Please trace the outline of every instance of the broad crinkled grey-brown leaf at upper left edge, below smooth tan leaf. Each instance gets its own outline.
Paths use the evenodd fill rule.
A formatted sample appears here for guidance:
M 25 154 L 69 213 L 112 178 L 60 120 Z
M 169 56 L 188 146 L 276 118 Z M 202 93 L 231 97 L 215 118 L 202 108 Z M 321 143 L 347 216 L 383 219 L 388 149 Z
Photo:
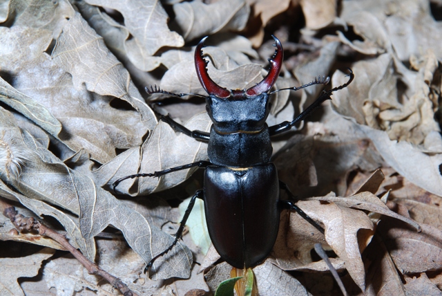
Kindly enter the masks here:
M 140 145 L 141 138 L 149 125 L 155 124 L 153 114 L 141 100 L 139 100 L 140 109 L 144 111 L 140 113 L 145 114 L 144 122 L 140 119 L 140 113 L 113 109 L 109 104 L 111 97 L 88 93 L 84 85 L 79 85 L 79 89 L 76 89 L 73 86 L 73 77 L 44 52 L 51 40 L 49 31 L 21 26 L 2 27 L 0 39 L 3 48 L 8 48 L 0 54 L 0 66 L 2 71 L 13 75 L 11 86 L 28 95 L 35 101 L 36 106 L 41 104 L 47 109 L 34 107 L 28 109 L 28 113 L 24 115 L 32 120 L 39 116 L 40 122 L 37 124 L 41 124 L 41 120 L 51 124 L 52 117 L 57 118 L 63 128 L 61 133 L 54 136 L 71 149 L 76 151 L 85 148 L 94 159 L 104 163 L 115 156 L 115 147 L 127 148 Z M 99 60 L 95 59 L 95 62 Z M 91 63 L 92 66 L 93 62 Z M 114 86 L 117 85 L 116 82 L 120 82 L 120 86 L 128 84 L 128 74 L 125 81 L 122 75 L 116 74 L 116 76 L 102 76 L 102 81 L 111 80 L 113 82 L 109 84 Z M 10 93 L 14 95 L 10 101 L 24 102 L 23 96 L 17 91 Z M 119 95 L 112 90 L 111 93 L 105 94 Z M 138 95 L 141 98 L 139 93 Z M 26 104 L 30 106 L 29 102 Z M 45 118 L 41 118 L 42 115 Z M 40 126 L 46 129 L 45 125 Z M 52 135 L 56 131 L 57 129 L 54 130 L 53 127 L 48 128 L 48 132 Z

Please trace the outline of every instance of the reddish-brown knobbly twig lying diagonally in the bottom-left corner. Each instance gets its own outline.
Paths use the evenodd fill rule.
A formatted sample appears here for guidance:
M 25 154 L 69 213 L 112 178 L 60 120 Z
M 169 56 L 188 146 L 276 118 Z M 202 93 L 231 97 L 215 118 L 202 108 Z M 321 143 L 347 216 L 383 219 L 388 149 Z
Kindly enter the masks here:
M 108 272 L 102 270 L 97 264 L 89 261 L 86 257 L 84 257 L 79 250 L 74 248 L 64 237 L 63 234 L 59 234 L 55 230 L 48 228 L 46 225 L 41 224 L 39 221 L 32 217 L 25 217 L 22 214 L 19 214 L 15 207 L 8 207 L 3 211 L 3 215 L 8 217 L 10 221 L 15 225 L 15 228 L 22 231 L 37 231 L 40 235 L 50 237 L 51 239 L 57 241 L 64 246 L 66 250 L 68 250 L 75 258 L 88 270 L 90 275 L 99 275 L 104 277 L 109 283 L 112 284 L 115 288 L 120 290 L 120 292 L 124 296 L 136 296 L 136 293 L 133 293 L 126 284 L 122 282 L 121 279 L 110 275 Z

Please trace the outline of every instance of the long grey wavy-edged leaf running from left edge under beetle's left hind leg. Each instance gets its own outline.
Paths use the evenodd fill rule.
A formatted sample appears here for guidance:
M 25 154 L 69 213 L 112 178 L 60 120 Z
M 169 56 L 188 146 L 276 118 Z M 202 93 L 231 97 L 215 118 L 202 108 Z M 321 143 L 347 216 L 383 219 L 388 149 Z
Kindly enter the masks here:
M 95 237 L 108 225 L 113 225 L 123 232 L 129 246 L 146 262 L 153 254 L 162 252 L 164 245 L 171 244 L 173 237 L 149 224 L 139 212 L 97 187 L 87 176 L 69 169 L 29 133 L 23 131 L 22 134 L 8 111 L 1 111 L 0 132 L 19 143 L 1 148 L 15 147 L 12 155 L 26 156 L 19 163 L 19 178 L 14 174 L 8 177 L 1 167 L 0 177 L 5 183 L 28 198 L 57 205 L 78 215 L 79 228 L 85 239 Z M 161 264 L 163 260 L 165 264 Z M 189 277 L 191 263 L 191 252 L 178 243 L 172 252 L 157 261 L 153 278 Z

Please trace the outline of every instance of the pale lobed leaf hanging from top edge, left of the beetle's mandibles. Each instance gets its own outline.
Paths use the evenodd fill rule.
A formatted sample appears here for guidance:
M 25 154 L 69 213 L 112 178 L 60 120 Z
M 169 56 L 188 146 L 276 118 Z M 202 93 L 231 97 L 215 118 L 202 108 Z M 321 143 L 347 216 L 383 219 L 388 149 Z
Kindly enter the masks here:
M 169 30 L 169 16 L 159 1 L 115 2 L 108 0 L 87 0 L 94 6 L 111 8 L 124 17 L 124 26 L 113 21 L 106 14 L 101 17 L 110 25 L 121 31 L 124 51 L 128 59 L 142 71 L 152 71 L 160 65 L 153 55 L 164 46 L 181 47 L 184 40 L 180 35 Z M 95 22 L 97 19 L 95 19 Z M 96 24 L 96 23 L 95 23 Z M 96 24 L 99 26 L 99 24 Z M 111 36 L 107 36 L 111 39 Z M 113 35 L 113 37 L 117 37 Z M 104 37 L 107 41 L 107 38 Z M 120 38 L 119 38 L 120 39 Z

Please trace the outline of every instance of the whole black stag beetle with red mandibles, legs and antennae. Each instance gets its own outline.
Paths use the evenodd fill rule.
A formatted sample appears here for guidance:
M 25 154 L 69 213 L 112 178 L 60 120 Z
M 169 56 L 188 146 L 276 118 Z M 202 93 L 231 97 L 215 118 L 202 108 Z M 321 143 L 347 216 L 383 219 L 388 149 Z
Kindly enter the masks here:
M 213 246 L 222 259 L 236 268 L 253 268 L 262 263 L 273 248 L 278 235 L 280 210 L 289 208 L 298 212 L 304 219 L 313 224 L 321 232 L 316 222 L 307 216 L 292 201 L 280 200 L 280 189 L 288 192 L 287 186 L 279 181 L 278 172 L 270 162 L 272 147 L 270 137 L 289 131 L 297 122 L 303 120 L 314 109 L 320 106 L 334 91 L 344 89 L 353 80 L 349 70 L 347 83 L 329 91 L 323 91 L 305 111 L 291 122 L 267 126 L 266 119 L 271 104 L 269 95 L 282 67 L 284 53 L 280 41 L 275 39 L 276 51 L 269 59 L 270 70 L 267 76 L 255 86 L 245 90 L 228 90 L 211 80 L 206 65 L 209 63 L 202 56 L 203 38 L 195 50 L 195 68 L 198 79 L 209 96 L 206 99 L 206 110 L 213 122 L 210 133 L 191 131 L 172 120 L 169 115 L 162 115 L 161 120 L 170 124 L 175 131 L 207 142 L 209 161 L 198 161 L 172 167 L 151 174 L 134 174 L 119 178 L 113 187 L 128 178 L 160 177 L 177 172 L 181 169 L 200 167 L 206 169 L 204 188 L 195 192 L 180 228 L 175 234 L 175 241 L 169 248 L 157 255 L 147 264 L 144 272 L 153 262 L 169 252 L 182 237 L 186 220 L 192 210 L 196 198 L 204 200 L 206 223 Z M 309 84 L 288 89 L 298 90 L 314 84 L 327 84 L 329 77 L 318 77 Z M 169 93 L 162 89 L 146 87 L 148 94 L 166 93 L 182 97 L 189 93 Z M 288 192 L 289 193 L 289 192 Z M 294 196 L 289 193 L 293 198 Z

